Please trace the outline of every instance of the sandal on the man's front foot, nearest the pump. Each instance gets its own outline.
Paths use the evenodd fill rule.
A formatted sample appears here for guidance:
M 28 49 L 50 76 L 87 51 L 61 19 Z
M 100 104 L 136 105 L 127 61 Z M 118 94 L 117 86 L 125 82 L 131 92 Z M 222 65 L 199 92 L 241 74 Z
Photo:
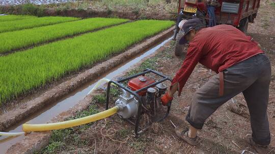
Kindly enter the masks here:
M 188 129 L 181 130 L 178 127 L 175 128 L 175 132 L 179 138 L 181 138 L 182 140 L 184 140 L 185 142 L 193 146 L 199 144 L 201 142 L 201 139 L 199 139 L 198 136 L 196 136 L 195 138 L 188 137 L 188 131 L 189 131 Z

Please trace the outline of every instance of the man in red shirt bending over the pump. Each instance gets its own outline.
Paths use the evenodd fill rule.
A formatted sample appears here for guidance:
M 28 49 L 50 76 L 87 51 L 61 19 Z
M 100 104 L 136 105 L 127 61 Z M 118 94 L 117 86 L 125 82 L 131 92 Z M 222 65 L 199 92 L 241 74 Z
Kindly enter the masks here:
M 175 129 L 176 134 L 191 145 L 199 143 L 197 130 L 221 105 L 243 93 L 251 116 L 252 135 L 246 140 L 259 152 L 265 153 L 270 143 L 267 117 L 268 90 L 271 76 L 269 59 L 252 37 L 231 25 L 205 28 L 200 19 L 190 19 L 181 28 L 180 44 L 189 42 L 185 60 L 176 73 L 170 91 L 161 98 L 162 104 L 181 94 L 187 79 L 198 62 L 212 69 L 214 75 L 194 95 L 186 121 L 189 129 Z

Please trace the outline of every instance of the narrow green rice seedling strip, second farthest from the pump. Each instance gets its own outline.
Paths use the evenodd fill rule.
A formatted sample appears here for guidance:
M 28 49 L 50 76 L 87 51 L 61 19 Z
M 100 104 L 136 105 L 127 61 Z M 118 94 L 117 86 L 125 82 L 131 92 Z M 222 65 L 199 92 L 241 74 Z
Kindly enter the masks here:
M 79 20 L 80 18 L 74 17 L 41 17 L 41 18 L 30 18 L 14 21 L 3 21 L 0 22 L 0 32 L 7 32 L 13 30 L 21 30 L 26 28 L 34 28 L 45 25 L 52 25 L 62 22 Z

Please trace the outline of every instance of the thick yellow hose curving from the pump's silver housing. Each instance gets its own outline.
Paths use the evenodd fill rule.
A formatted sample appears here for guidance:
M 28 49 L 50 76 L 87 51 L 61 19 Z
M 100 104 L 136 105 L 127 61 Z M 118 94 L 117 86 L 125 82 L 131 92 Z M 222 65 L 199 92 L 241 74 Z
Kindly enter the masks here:
M 23 124 L 22 128 L 24 132 L 59 130 L 59 129 L 88 124 L 88 123 L 109 117 L 115 114 L 117 111 L 118 111 L 118 106 L 115 106 L 113 108 L 104 110 L 102 112 L 89 115 L 87 117 L 79 118 L 79 119 L 74 119 L 74 120 L 59 122 L 59 123 L 50 123 L 50 124 Z

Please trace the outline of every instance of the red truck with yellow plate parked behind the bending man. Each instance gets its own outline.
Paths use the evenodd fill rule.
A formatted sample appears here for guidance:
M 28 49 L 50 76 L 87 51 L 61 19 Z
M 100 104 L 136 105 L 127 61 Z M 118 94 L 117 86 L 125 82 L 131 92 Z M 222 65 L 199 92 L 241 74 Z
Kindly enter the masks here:
M 178 44 L 183 35 L 178 26 L 182 20 L 200 18 L 206 27 L 228 24 L 246 33 L 249 22 L 253 23 L 257 16 L 259 6 L 260 0 L 179 0 L 172 38 L 176 41 L 175 55 L 180 56 L 184 48 Z

